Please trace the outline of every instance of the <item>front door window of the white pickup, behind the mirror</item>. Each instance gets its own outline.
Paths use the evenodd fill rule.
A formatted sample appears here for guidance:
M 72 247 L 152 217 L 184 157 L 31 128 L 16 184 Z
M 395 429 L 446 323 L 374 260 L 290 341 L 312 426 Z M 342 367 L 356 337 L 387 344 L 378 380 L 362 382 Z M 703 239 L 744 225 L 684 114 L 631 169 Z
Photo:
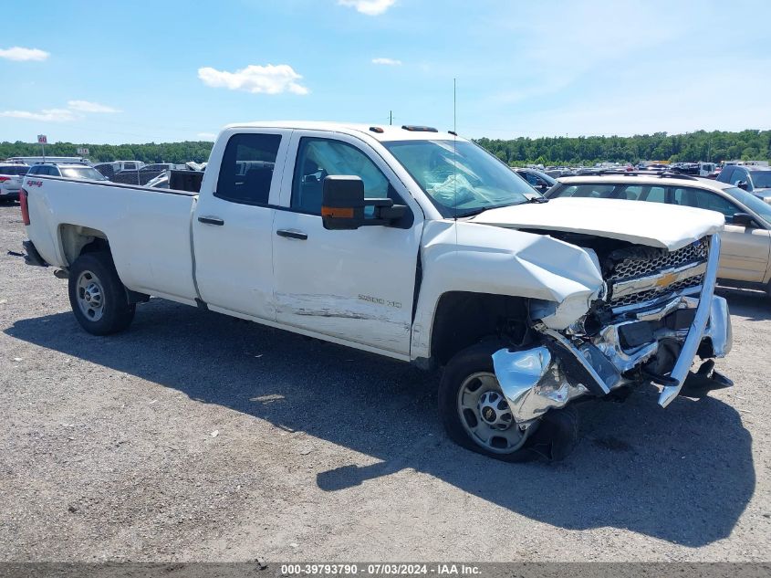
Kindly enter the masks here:
M 321 215 L 321 193 L 328 175 L 356 175 L 364 182 L 365 198 L 400 202 L 388 179 L 364 152 L 346 142 L 303 138 L 297 150 L 292 181 L 292 208 Z

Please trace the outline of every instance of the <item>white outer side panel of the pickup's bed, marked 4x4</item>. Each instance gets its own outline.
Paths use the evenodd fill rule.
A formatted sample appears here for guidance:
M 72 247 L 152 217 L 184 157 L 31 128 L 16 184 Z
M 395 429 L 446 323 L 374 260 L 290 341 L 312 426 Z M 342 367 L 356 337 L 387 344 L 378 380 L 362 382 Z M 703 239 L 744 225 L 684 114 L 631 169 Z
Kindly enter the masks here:
M 31 233 L 48 263 L 69 266 L 73 232 L 103 236 L 126 287 L 194 303 L 196 193 L 52 176 L 27 177 L 23 187 Z

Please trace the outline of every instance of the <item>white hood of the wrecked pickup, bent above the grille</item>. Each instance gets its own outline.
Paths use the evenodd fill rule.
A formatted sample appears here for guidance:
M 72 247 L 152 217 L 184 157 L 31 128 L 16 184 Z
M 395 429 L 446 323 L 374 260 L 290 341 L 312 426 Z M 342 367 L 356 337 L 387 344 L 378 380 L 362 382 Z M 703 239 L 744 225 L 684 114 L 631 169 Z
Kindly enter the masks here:
M 490 209 L 472 222 L 605 236 L 674 251 L 720 232 L 725 219 L 720 213 L 688 206 L 565 197 Z

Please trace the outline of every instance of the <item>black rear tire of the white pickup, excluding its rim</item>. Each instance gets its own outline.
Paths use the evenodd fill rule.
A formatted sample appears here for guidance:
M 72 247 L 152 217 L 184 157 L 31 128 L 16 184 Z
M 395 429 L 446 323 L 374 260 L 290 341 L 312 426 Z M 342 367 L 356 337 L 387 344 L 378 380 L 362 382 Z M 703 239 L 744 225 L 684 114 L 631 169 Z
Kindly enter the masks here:
M 78 306 L 78 277 L 84 271 L 91 271 L 99 278 L 104 292 L 104 311 L 99 321 L 90 320 Z M 86 253 L 75 259 L 69 268 L 68 293 L 75 318 L 84 330 L 93 335 L 122 331 L 133 319 L 134 306 L 129 304 L 126 289 L 120 282 L 109 253 Z

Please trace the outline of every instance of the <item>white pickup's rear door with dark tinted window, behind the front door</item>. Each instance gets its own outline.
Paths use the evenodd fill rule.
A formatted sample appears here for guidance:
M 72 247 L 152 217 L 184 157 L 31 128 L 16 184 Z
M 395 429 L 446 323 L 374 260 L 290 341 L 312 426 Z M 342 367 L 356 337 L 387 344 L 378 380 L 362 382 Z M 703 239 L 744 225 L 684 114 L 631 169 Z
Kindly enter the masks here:
M 195 279 L 214 310 L 276 320 L 273 216 L 291 131 L 233 134 L 193 215 Z M 208 185 L 208 183 L 207 183 Z

